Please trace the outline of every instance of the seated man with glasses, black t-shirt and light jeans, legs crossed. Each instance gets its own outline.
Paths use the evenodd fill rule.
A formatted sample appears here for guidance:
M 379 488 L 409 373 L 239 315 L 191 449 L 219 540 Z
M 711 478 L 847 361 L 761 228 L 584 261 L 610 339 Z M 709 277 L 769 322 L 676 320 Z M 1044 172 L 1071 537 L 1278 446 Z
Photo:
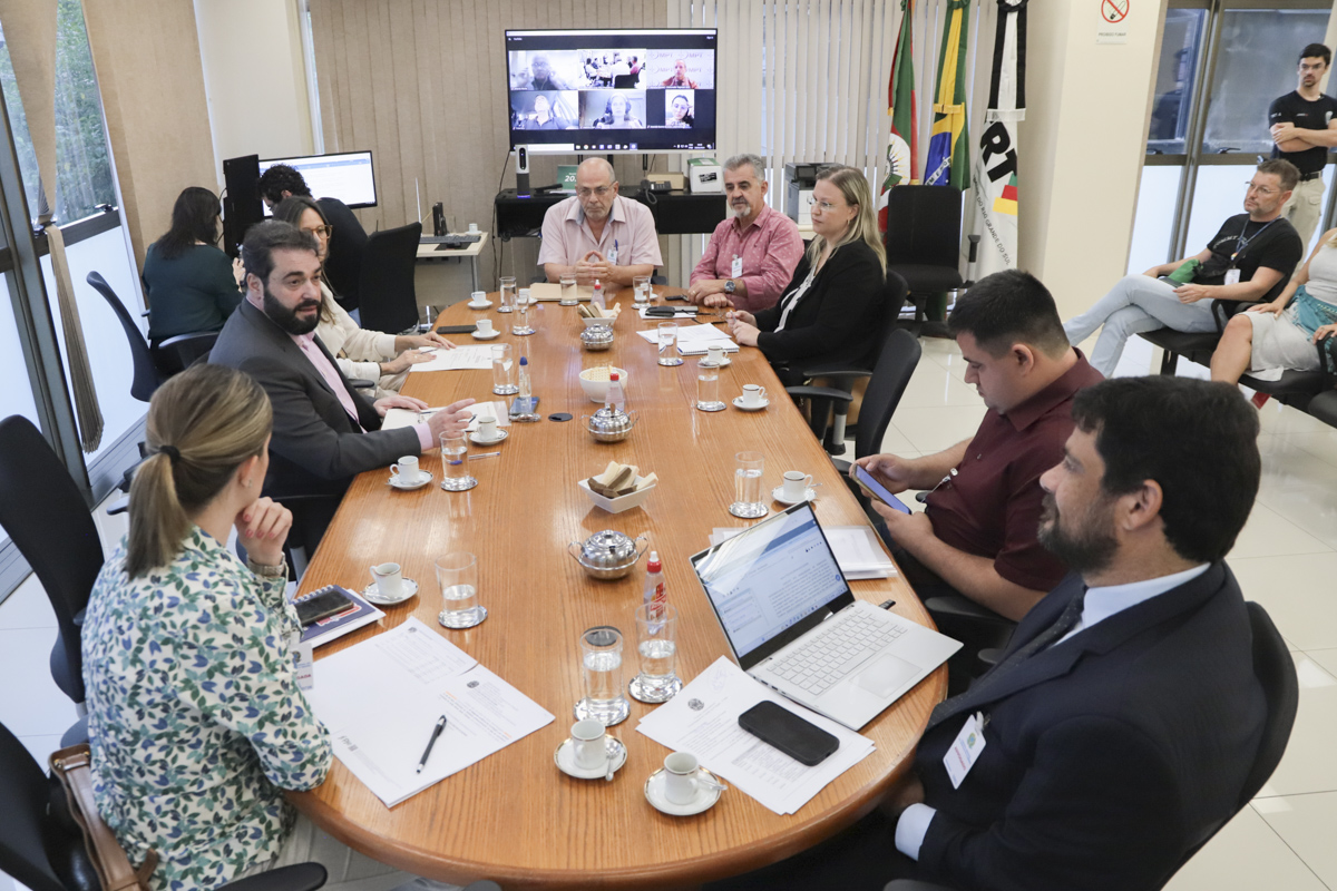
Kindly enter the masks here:
M 1217 330 L 1213 301 L 1277 297 L 1304 256 L 1296 227 L 1281 214 L 1298 179 L 1288 160 L 1258 164 L 1245 183 L 1243 214 L 1227 219 L 1198 254 L 1123 277 L 1095 306 L 1063 325 L 1068 342 L 1075 346 L 1102 329 L 1091 365 L 1112 377 L 1134 334 L 1159 327 L 1209 334 Z

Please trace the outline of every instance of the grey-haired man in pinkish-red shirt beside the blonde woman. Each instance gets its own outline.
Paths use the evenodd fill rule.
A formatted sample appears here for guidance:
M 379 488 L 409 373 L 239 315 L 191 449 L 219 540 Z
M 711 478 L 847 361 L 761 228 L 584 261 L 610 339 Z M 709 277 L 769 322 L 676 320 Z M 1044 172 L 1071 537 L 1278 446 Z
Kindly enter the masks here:
M 757 155 L 725 162 L 725 195 L 734 211 L 715 227 L 706 252 L 691 271 L 687 299 L 755 313 L 779 301 L 804 255 L 798 226 L 766 206 L 767 183 Z

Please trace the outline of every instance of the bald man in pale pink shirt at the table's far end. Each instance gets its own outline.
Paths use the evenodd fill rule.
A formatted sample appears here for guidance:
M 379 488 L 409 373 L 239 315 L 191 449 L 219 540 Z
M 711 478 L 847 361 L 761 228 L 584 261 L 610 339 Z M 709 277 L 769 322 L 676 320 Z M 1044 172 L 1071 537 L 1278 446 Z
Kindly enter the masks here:
M 663 260 L 650 208 L 618 195 L 618 178 L 603 158 L 576 168 L 575 198 L 558 202 L 543 216 L 539 264 L 550 282 L 575 275 L 580 285 L 631 285 L 654 275 Z

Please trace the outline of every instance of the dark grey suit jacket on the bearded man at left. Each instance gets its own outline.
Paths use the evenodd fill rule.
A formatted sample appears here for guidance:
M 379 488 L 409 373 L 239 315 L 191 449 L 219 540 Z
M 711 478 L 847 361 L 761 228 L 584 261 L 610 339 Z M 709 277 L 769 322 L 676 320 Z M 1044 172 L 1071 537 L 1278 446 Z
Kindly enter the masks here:
M 421 450 L 412 427 L 381 430 L 376 409 L 349 387 L 358 429 L 301 347 L 250 301 L 227 319 L 209 361 L 255 378 L 274 406 L 266 496 L 340 494 L 356 474 Z

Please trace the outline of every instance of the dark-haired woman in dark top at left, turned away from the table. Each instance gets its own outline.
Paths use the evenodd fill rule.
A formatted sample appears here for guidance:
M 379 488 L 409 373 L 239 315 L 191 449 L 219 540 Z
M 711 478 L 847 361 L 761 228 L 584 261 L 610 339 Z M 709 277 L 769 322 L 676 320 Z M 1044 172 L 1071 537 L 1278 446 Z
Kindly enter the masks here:
M 148 246 L 148 339 L 219 331 L 242 301 L 241 273 L 218 247 L 218 196 L 191 186 L 176 196 L 171 228 Z

